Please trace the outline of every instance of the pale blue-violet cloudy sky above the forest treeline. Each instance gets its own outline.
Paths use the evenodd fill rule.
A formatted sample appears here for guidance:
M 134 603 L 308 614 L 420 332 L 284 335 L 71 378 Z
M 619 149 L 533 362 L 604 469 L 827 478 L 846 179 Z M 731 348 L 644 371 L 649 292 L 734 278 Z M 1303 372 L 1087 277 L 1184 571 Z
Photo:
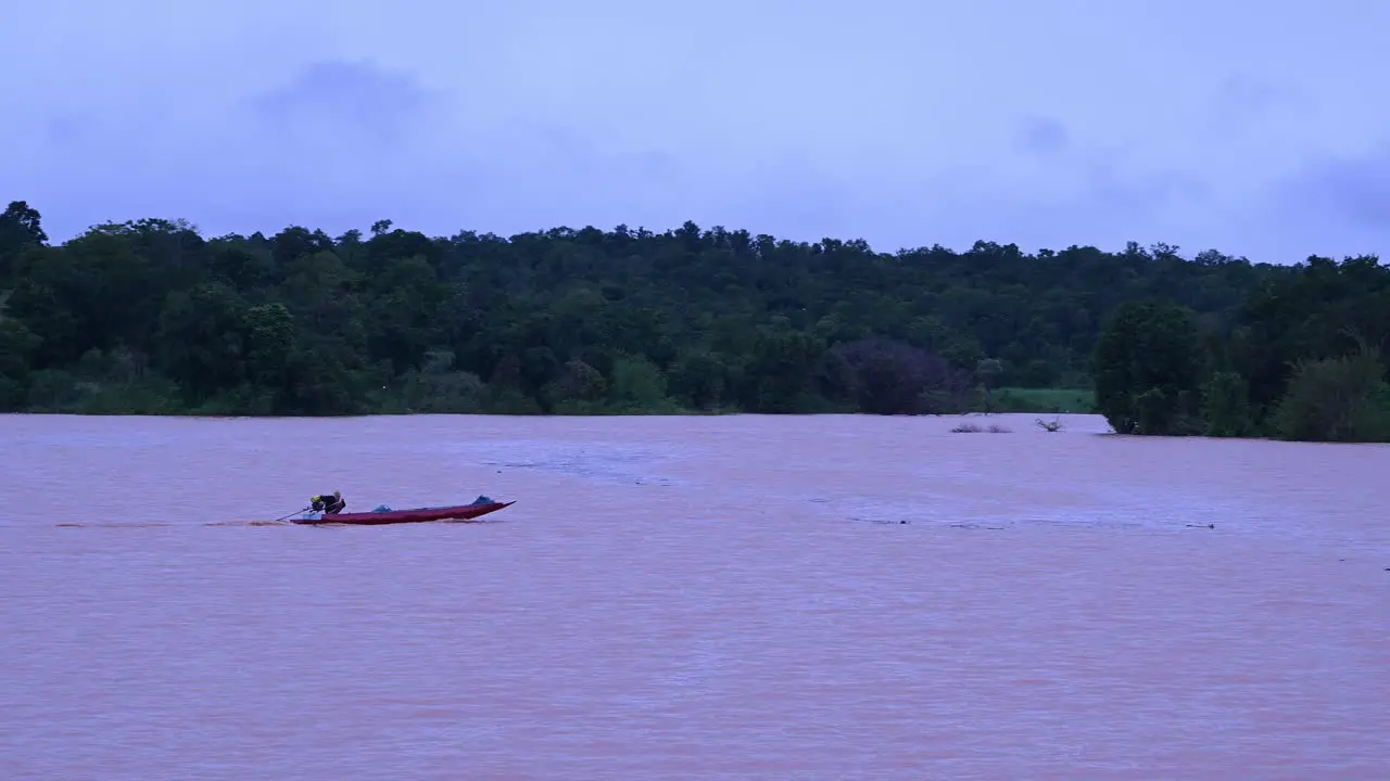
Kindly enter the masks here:
M 684 220 L 1390 256 L 1390 3 L 0 0 L 54 239 Z

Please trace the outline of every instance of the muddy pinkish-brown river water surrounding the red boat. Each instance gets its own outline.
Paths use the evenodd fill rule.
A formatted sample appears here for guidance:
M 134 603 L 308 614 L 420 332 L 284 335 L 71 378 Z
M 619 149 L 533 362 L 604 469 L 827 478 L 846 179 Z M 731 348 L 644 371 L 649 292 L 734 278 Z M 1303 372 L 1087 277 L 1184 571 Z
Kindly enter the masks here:
M 0 778 L 1383 778 L 1390 450 L 1065 420 L 0 417 Z

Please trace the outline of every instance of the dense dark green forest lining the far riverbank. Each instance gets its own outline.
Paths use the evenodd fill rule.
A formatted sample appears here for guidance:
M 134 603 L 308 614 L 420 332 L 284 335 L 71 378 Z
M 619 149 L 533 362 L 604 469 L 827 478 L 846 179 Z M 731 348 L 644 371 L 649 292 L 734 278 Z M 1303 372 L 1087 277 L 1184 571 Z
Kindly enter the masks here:
M 1123 432 L 1384 439 L 1387 335 L 1373 257 L 385 220 L 213 239 L 142 220 L 54 246 L 25 202 L 0 215 L 6 411 L 930 414 L 1073 389 L 1054 396 L 1094 390 Z

